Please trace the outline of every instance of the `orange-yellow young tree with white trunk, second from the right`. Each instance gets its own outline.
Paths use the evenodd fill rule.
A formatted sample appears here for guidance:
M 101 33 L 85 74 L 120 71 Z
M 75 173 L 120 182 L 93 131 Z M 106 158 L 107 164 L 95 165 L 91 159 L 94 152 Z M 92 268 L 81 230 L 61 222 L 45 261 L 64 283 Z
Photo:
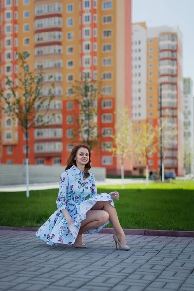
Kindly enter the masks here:
M 134 134 L 134 153 L 136 157 L 146 160 L 146 185 L 149 185 L 149 158 L 157 152 L 158 127 L 143 124 L 141 131 Z

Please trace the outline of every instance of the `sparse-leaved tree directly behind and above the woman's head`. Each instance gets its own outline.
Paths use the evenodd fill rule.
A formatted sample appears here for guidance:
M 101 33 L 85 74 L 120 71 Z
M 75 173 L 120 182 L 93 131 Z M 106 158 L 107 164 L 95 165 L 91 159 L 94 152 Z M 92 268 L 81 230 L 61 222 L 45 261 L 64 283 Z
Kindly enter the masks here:
M 101 82 L 90 80 L 87 74 L 83 74 L 80 81 L 75 81 L 69 93 L 69 98 L 79 105 L 78 112 L 74 113 L 69 129 L 72 130 L 72 142 L 87 144 L 92 150 L 99 142 L 99 129 L 97 126 L 97 113 L 99 97 L 101 96 Z

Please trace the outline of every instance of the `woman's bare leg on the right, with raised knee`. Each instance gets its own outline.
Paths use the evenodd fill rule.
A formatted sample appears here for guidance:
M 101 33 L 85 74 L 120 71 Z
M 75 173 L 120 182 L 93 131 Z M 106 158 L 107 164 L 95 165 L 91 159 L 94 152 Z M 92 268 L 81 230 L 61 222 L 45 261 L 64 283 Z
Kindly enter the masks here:
M 91 210 L 103 209 L 109 214 L 109 221 L 112 224 L 119 242 L 126 245 L 125 234 L 118 220 L 116 209 L 111 205 L 110 201 L 98 201 Z

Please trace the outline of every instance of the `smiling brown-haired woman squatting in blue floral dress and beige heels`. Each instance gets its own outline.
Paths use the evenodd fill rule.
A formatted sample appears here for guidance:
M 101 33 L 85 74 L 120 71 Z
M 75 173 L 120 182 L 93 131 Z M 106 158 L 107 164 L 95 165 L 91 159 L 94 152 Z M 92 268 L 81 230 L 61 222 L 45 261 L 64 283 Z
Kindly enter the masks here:
M 113 239 L 121 250 L 130 250 L 118 220 L 113 198 L 118 192 L 97 194 L 95 178 L 88 170 L 90 166 L 88 146 L 75 146 L 67 160 L 65 172 L 60 177 L 58 210 L 40 227 L 36 235 L 49 245 L 73 244 L 85 248 L 83 233 L 97 233 L 109 221 L 115 233 Z M 87 196 L 90 196 L 87 197 Z

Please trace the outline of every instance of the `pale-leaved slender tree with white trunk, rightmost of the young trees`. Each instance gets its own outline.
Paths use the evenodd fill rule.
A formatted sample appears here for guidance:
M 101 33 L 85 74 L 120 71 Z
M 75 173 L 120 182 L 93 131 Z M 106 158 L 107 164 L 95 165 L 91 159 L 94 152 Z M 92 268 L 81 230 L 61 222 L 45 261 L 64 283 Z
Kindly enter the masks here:
M 174 148 L 177 145 L 177 126 L 168 124 L 168 120 L 166 118 L 162 118 L 162 124 L 158 128 L 159 129 L 159 137 L 162 135 L 162 182 L 164 182 L 164 164 L 165 159 L 168 156 L 169 148 Z

